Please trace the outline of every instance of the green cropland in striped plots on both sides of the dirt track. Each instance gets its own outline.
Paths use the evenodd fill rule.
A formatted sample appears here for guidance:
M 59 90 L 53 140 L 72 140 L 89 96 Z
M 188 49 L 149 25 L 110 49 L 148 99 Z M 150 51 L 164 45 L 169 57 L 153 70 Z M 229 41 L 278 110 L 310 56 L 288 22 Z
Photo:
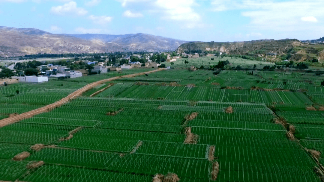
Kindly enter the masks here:
M 0 180 L 157 181 L 172 173 L 172 181 L 321 181 L 324 163 L 314 151 L 324 152 L 324 111 L 312 96 L 322 94 L 318 78 L 306 87 L 265 73 L 273 74 L 171 69 L 100 83 L 1 127 Z M 31 102 L 36 90 L 55 102 L 71 92 L 46 89 L 72 91 L 101 78 L 26 91 L 17 84 L 2 92 L 5 98 L 20 88 L 2 102 L 4 115 L 45 105 L 38 92 Z M 21 102 L 10 103 L 20 94 Z

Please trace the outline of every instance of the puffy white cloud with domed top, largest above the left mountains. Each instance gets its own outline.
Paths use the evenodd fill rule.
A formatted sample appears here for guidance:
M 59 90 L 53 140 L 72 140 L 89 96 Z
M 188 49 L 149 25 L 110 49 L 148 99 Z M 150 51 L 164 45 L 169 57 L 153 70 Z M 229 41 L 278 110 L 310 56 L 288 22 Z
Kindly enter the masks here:
M 71 1 L 69 3 L 64 4 L 63 6 L 53 6 L 51 8 L 51 12 L 56 15 L 86 15 L 88 13 L 87 10 L 81 7 L 76 6 L 76 2 Z

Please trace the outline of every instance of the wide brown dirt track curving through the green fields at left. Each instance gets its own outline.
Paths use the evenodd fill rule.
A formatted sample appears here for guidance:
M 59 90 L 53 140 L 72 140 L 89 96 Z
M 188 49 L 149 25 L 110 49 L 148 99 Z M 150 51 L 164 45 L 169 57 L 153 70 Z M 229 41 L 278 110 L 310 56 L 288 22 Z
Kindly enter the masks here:
M 97 85 L 99 85 L 99 84 L 101 84 L 103 82 L 116 80 L 116 79 L 120 79 L 120 78 L 131 78 L 131 77 L 134 77 L 134 76 L 144 75 L 144 74 L 147 74 L 147 73 L 153 73 L 153 72 L 161 71 L 161 70 L 165 70 L 165 69 L 160 68 L 160 69 L 153 70 L 153 71 L 147 71 L 147 72 L 135 73 L 135 74 L 130 74 L 130 75 L 118 76 L 118 77 L 113 77 L 113 78 L 108 78 L 108 79 L 92 82 L 92 83 L 87 84 L 86 86 L 74 91 L 70 95 L 64 97 L 63 99 L 61 99 L 61 100 L 59 100 L 57 102 L 54 102 L 52 104 L 49 104 L 47 106 L 44 106 L 44 107 L 29 111 L 29 112 L 25 112 L 25 113 L 22 113 L 22 114 L 19 114 L 19 115 L 16 115 L 16 116 L 12 116 L 12 117 L 2 119 L 2 120 L 0 120 L 0 128 L 3 127 L 3 126 L 6 126 L 8 124 L 11 124 L 11 123 L 16 123 L 16 122 L 18 122 L 20 120 L 23 120 L 23 119 L 26 119 L 26 118 L 31 118 L 36 114 L 40 114 L 40 113 L 43 113 L 43 112 L 49 112 L 52 109 L 55 109 L 56 107 L 59 107 L 59 106 L 63 105 L 64 103 L 70 101 L 71 99 L 73 99 L 73 98 L 75 98 L 77 96 L 80 96 L 83 92 L 85 92 L 87 90 L 90 90 L 93 87 L 95 87 L 95 86 L 97 86 Z

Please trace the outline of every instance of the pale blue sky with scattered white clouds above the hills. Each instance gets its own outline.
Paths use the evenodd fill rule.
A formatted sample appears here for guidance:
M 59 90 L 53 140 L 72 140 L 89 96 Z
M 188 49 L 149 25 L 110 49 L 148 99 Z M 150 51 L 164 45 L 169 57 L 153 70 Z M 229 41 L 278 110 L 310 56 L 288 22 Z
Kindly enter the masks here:
M 0 26 L 187 41 L 324 37 L 323 0 L 0 0 Z

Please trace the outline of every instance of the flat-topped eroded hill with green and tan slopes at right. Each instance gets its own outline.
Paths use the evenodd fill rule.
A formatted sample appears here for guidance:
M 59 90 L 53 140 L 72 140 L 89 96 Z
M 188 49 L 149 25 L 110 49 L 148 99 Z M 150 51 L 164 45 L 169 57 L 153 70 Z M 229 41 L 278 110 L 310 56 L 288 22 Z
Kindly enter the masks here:
M 303 43 L 297 39 L 256 40 L 247 42 L 189 42 L 179 46 L 178 51 L 201 53 L 205 51 L 220 51 L 230 55 L 248 55 L 252 57 L 268 57 L 275 59 L 287 56 L 286 59 L 295 61 L 312 61 L 324 59 L 324 45 Z

